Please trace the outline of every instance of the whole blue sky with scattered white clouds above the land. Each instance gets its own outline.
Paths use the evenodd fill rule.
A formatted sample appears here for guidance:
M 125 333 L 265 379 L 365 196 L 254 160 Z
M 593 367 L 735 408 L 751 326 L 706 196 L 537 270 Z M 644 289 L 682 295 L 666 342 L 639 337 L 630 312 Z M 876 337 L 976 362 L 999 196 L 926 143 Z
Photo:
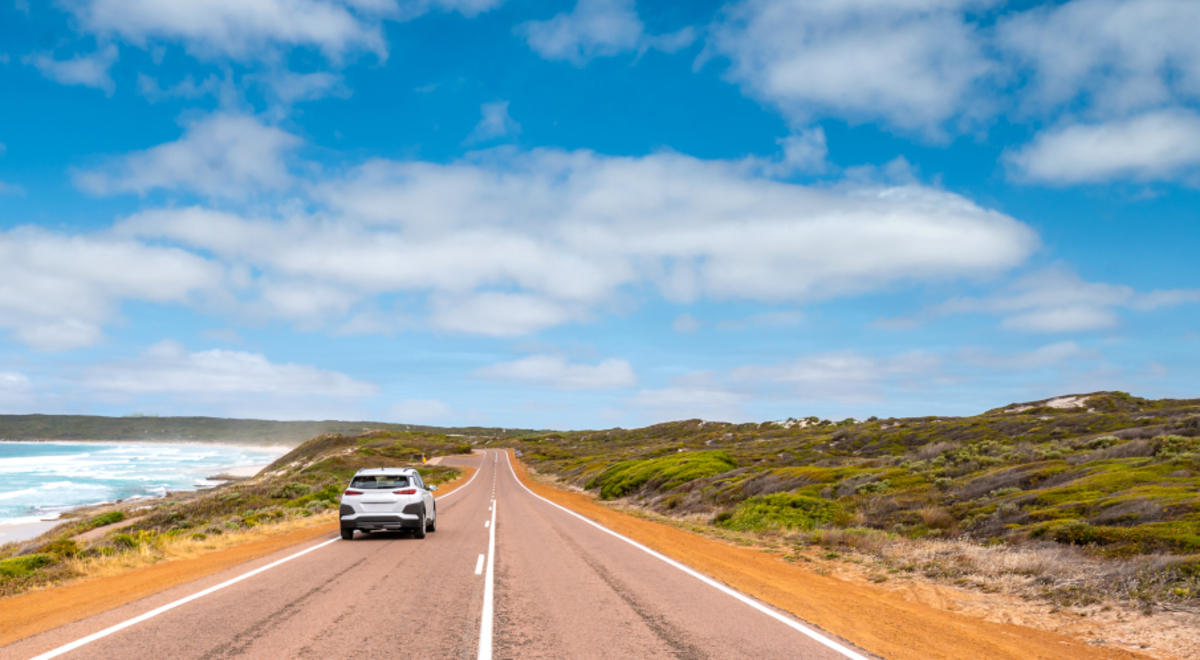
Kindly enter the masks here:
M 0 0 L 0 412 L 1193 397 L 1196 34 L 1190 0 Z

